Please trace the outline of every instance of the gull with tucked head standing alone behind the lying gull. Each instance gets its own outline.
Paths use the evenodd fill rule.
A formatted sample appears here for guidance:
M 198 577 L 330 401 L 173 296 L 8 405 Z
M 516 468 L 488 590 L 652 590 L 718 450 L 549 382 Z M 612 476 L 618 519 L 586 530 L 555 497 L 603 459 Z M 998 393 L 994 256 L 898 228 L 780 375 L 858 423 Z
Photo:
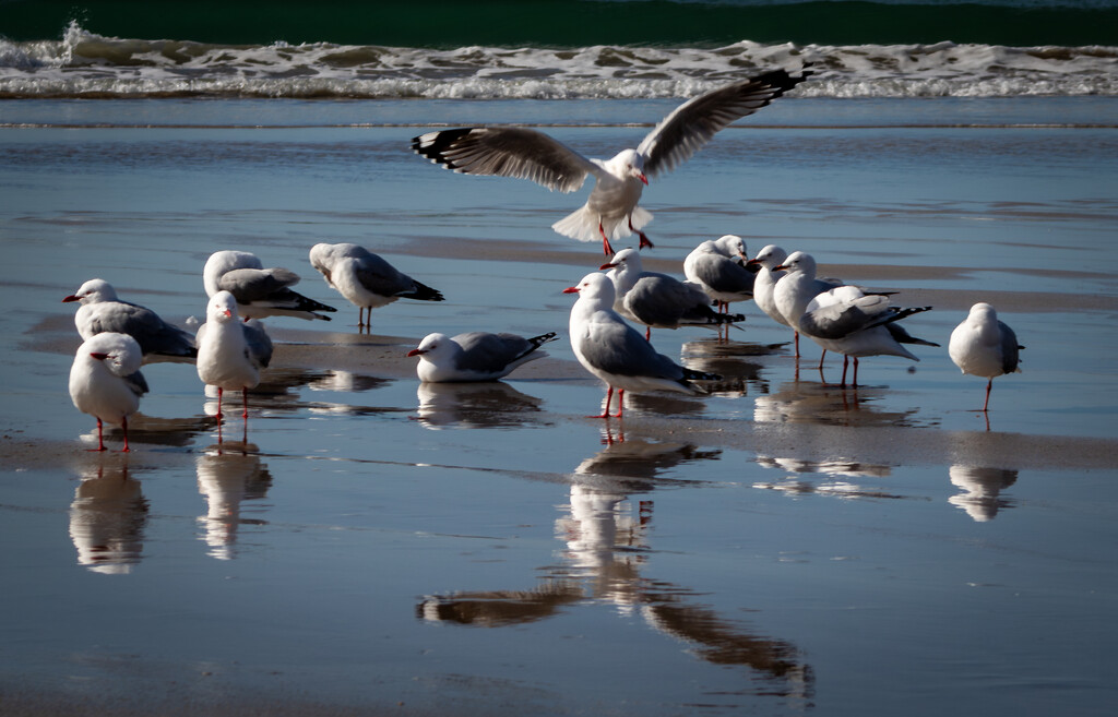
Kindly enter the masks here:
M 364 247 L 356 243 L 316 243 L 311 247 L 311 266 L 322 274 L 326 286 L 358 307 L 357 325 L 364 326 L 364 310 L 391 304 L 398 298 L 442 302 L 443 295 L 407 274 L 397 271 Z

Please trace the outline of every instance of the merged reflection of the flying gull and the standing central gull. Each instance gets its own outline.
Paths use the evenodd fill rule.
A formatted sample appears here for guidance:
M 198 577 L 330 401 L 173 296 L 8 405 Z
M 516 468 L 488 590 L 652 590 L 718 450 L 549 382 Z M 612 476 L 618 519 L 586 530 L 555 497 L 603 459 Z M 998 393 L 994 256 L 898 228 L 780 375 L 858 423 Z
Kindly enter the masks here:
M 565 549 L 562 564 L 547 568 L 540 585 L 528 591 L 477 591 L 430 596 L 417 616 L 481 627 L 505 627 L 560 614 L 577 604 L 609 603 L 623 615 L 641 615 L 651 628 L 689 646 L 689 652 L 723 666 L 748 667 L 762 685 L 742 694 L 762 694 L 806 706 L 814 678 L 799 651 L 787 641 L 742 630 L 737 621 L 691 602 L 698 592 L 642 575 L 651 548 L 652 501 L 634 513 L 628 496 L 653 490 L 657 474 L 688 460 L 713 458 L 692 446 L 652 443 L 607 434 L 606 448 L 582 461 L 570 487 L 570 500 L 556 520 Z

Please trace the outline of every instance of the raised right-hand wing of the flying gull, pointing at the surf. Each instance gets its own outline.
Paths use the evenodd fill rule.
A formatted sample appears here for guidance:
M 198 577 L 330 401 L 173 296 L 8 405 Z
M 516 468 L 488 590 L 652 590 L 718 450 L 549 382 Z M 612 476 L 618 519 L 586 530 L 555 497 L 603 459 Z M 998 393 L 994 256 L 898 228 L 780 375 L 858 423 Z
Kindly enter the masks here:
M 644 156 L 644 173 L 655 176 L 671 171 L 731 122 L 765 107 L 811 74 L 805 70 L 792 77 L 778 69 L 689 99 L 641 142 L 636 151 Z

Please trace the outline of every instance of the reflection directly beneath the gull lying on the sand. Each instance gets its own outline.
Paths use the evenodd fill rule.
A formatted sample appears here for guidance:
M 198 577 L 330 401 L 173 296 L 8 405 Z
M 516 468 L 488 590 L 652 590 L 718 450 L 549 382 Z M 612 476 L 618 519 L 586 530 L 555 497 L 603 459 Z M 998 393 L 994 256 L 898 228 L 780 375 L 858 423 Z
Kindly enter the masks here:
M 432 430 L 525 426 L 538 419 L 542 401 L 503 381 L 427 383 L 416 390 L 419 421 Z

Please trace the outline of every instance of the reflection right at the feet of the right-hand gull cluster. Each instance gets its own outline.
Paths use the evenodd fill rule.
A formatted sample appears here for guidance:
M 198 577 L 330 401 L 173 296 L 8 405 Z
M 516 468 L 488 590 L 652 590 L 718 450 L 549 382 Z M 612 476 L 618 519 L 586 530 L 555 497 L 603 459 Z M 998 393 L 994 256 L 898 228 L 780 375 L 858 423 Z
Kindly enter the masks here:
M 821 426 L 917 424 L 917 409 L 879 411 L 872 402 L 880 399 L 878 389 L 843 391 L 837 386 L 808 381 L 785 383 L 776 393 L 757 396 L 754 421 L 758 423 L 817 423 Z

